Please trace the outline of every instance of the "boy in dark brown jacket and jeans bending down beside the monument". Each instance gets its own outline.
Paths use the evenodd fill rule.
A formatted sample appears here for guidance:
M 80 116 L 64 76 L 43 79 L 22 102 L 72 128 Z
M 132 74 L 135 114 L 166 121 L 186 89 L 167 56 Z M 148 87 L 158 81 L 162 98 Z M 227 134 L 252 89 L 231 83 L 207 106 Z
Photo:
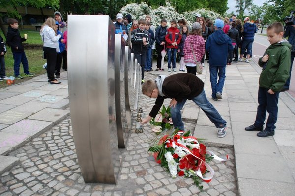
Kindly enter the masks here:
M 168 77 L 160 75 L 154 81 L 144 82 L 142 89 L 144 95 L 157 98 L 148 117 L 143 119 L 143 124 L 148 123 L 152 117 L 157 115 L 165 98 L 172 98 L 169 107 L 173 125 L 179 130 L 184 130 L 180 110 L 188 99 L 194 101 L 205 112 L 210 121 L 215 124 L 218 128 L 217 137 L 222 138 L 226 135 L 226 121 L 208 101 L 204 91 L 204 82 L 196 75 L 192 73 L 178 73 Z

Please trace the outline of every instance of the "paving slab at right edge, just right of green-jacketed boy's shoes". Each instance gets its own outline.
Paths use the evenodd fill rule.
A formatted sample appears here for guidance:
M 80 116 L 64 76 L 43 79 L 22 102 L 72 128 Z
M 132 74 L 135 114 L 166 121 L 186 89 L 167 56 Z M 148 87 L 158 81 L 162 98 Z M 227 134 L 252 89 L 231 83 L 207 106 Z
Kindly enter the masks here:
M 278 146 L 295 147 L 295 130 L 275 130 L 273 136 Z

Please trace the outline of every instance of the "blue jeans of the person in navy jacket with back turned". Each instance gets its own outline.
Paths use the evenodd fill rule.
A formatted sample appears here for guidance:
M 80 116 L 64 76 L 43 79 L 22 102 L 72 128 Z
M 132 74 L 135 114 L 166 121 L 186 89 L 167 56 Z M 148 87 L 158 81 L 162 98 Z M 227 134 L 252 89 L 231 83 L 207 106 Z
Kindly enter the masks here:
M 225 66 L 209 66 L 210 70 L 210 82 L 212 89 L 212 98 L 216 98 L 216 93 L 222 94 L 222 88 L 225 80 Z M 217 82 L 217 75 L 219 77 Z

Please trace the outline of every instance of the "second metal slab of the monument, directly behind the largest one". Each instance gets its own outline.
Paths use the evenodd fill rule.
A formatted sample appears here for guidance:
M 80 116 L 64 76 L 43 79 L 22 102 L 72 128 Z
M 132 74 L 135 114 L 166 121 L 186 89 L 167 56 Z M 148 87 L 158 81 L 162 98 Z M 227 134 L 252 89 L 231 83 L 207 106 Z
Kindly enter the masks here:
M 125 105 L 125 41 L 120 34 L 115 35 L 115 101 L 118 147 L 125 148 L 129 130 Z

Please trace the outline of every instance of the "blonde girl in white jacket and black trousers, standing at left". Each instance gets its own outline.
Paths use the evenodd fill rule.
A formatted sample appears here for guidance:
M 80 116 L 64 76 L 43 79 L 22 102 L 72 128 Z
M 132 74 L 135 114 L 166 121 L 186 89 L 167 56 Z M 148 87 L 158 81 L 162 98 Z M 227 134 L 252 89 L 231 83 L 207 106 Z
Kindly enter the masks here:
M 55 26 L 55 20 L 53 18 L 48 18 L 41 27 L 40 35 L 43 40 L 43 52 L 46 56 L 47 61 L 47 76 L 48 82 L 50 84 L 60 84 L 58 80 L 54 77 L 57 52 L 59 51 L 59 38 L 61 35 L 57 35 L 57 30 Z

